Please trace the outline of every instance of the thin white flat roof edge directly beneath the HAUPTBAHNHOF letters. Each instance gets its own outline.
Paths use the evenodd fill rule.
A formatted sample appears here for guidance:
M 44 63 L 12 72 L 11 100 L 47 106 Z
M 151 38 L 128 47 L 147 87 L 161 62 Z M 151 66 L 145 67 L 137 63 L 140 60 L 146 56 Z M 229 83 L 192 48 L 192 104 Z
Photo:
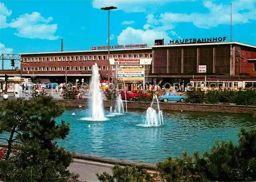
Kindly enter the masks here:
M 181 47 L 181 46 L 198 46 L 198 45 L 225 45 L 225 44 L 238 44 L 245 47 L 250 47 L 256 49 L 256 46 L 249 45 L 245 43 L 239 42 L 211 42 L 211 43 L 177 43 L 177 44 L 169 44 L 169 45 L 153 45 L 151 48 L 170 48 L 170 47 Z

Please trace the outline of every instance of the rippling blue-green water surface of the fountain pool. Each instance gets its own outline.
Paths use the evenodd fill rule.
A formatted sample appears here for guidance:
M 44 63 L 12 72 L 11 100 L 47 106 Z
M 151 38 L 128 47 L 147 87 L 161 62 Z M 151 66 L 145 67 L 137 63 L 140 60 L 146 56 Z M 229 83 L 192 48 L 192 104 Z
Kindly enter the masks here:
M 72 116 L 73 112 L 76 116 Z M 88 111 L 82 109 L 67 110 L 63 114 L 58 122 L 69 121 L 71 131 L 67 140 L 60 140 L 59 145 L 80 153 L 152 163 L 180 156 L 183 151 L 202 154 L 209 151 L 216 140 L 237 143 L 241 127 L 256 126 L 252 115 L 229 113 L 165 111 L 165 125 L 151 128 L 137 126 L 145 118 L 145 112 L 141 111 L 108 117 L 108 121 L 79 120 L 87 115 Z

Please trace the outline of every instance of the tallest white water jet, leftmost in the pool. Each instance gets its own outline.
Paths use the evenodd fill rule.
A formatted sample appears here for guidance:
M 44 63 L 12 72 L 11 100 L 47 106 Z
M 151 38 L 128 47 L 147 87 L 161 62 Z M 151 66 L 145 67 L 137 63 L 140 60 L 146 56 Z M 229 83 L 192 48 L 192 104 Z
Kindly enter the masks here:
M 97 63 L 95 63 L 92 66 L 89 104 L 90 104 L 89 112 L 90 112 L 91 120 L 93 120 L 93 121 L 106 120 L 106 118 L 104 117 L 103 100 L 102 100 L 102 93 L 101 93 L 101 88 L 100 88 L 99 69 L 98 69 Z

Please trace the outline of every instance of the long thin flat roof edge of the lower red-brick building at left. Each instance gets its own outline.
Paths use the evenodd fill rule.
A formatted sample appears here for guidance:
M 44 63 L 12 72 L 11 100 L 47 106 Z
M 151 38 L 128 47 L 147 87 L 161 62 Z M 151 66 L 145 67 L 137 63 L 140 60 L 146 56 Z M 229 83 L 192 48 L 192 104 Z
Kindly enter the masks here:
M 130 48 L 130 49 L 110 49 L 111 51 L 137 51 L 137 50 L 152 50 L 152 48 Z M 31 55 L 31 54 L 65 54 L 65 53 L 89 53 L 89 52 L 105 52 L 104 50 L 90 50 L 90 51 L 59 51 L 59 52 L 42 52 L 42 53 L 20 53 L 19 55 Z

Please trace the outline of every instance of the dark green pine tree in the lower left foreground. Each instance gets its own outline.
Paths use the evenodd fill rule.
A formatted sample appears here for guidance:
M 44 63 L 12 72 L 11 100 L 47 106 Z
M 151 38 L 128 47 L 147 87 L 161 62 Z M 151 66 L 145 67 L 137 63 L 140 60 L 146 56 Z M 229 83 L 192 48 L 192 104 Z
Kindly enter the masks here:
M 73 153 L 58 147 L 69 134 L 69 123 L 55 119 L 65 111 L 50 96 L 32 102 L 8 101 L 0 110 L 0 133 L 9 132 L 8 150 L 0 161 L 4 181 L 70 181 L 78 175 L 67 170 Z M 18 145 L 17 145 L 18 144 Z

